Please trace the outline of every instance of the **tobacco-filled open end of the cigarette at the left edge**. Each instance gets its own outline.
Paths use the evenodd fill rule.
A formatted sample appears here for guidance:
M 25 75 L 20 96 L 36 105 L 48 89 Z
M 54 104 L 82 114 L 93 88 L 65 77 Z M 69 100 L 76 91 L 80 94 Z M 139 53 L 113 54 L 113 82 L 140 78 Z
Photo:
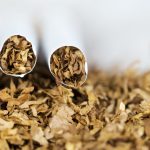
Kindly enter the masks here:
M 22 75 L 30 72 L 36 62 L 32 44 L 23 36 L 8 38 L 0 52 L 0 66 L 8 75 Z

